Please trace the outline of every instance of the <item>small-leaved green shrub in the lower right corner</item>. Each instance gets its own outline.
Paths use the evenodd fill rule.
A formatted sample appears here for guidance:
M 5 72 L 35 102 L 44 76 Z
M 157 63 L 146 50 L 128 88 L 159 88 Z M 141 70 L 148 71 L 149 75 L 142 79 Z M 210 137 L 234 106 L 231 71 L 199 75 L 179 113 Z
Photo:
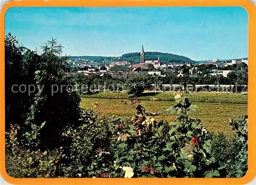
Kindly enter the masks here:
M 242 177 L 247 171 L 247 115 L 230 120 L 229 125 L 237 135 L 227 137 L 223 133 L 210 134 L 213 156 L 226 166 L 226 177 Z

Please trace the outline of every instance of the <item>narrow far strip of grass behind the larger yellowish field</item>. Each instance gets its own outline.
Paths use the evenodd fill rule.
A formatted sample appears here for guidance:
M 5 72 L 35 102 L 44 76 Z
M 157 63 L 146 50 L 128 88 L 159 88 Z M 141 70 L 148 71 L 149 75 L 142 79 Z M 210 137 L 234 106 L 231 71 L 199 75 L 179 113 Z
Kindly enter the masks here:
M 174 96 L 177 92 L 144 92 L 139 100 L 150 100 L 152 97 L 158 101 L 175 101 Z M 247 94 L 241 93 L 222 93 L 222 92 L 191 92 L 193 102 L 208 102 L 208 103 L 235 103 L 247 104 Z M 129 99 L 125 91 L 109 92 L 104 91 L 93 95 L 84 95 L 84 98 L 105 98 L 105 99 Z

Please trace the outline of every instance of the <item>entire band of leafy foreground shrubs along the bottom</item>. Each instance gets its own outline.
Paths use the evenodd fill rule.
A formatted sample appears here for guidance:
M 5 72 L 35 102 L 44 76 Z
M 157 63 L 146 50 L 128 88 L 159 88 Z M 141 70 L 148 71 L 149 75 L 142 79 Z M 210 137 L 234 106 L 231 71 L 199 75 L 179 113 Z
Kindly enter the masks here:
M 99 117 L 85 109 L 83 124 L 63 130 L 65 145 L 53 151 L 26 151 L 15 136 L 17 128 L 12 128 L 7 140 L 7 172 L 14 177 L 243 176 L 247 170 L 247 119 L 230 121 L 238 129 L 238 136 L 230 140 L 208 133 L 200 120 L 190 119 L 188 113 L 196 107 L 188 98 L 176 96 L 176 101 L 167 110 L 179 115 L 172 124 L 148 118 L 150 113 L 138 100 L 132 102 L 137 110 L 132 121 Z M 226 141 L 220 143 L 224 137 Z

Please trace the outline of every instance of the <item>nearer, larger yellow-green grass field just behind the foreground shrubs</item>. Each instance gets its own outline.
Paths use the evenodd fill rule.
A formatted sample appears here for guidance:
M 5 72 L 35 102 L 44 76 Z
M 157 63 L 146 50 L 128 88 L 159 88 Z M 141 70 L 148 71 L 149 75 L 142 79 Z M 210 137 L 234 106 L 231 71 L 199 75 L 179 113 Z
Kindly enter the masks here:
M 123 94 L 121 94 L 123 95 Z M 124 104 L 124 102 L 127 104 Z M 141 99 L 140 99 L 141 100 Z M 99 106 L 93 107 L 92 104 L 98 102 Z M 159 113 L 154 116 L 157 121 L 166 120 L 169 123 L 175 120 L 176 115 L 168 115 L 165 109 L 173 106 L 175 102 L 170 101 L 141 101 L 142 106 L 145 107 L 147 112 Z M 224 132 L 232 134 L 233 131 L 229 127 L 229 119 L 239 115 L 247 114 L 247 104 L 234 104 L 234 103 L 195 103 L 198 110 L 191 112 L 191 118 L 201 119 L 203 125 L 209 130 L 214 132 Z M 130 101 L 125 99 L 99 99 L 99 98 L 82 98 L 82 108 L 92 108 L 95 112 L 103 115 L 116 115 L 121 118 L 131 119 L 136 114 L 135 108 L 131 105 Z

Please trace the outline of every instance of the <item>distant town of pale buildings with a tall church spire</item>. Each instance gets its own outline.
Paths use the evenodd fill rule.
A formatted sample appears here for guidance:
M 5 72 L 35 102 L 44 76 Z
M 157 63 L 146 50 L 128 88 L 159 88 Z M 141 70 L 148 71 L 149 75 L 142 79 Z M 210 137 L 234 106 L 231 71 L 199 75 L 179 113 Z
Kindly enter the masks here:
M 197 74 L 202 73 L 199 71 L 199 65 L 214 65 L 214 69 L 209 71 L 204 76 L 212 75 L 217 76 L 221 75 L 223 77 L 227 77 L 227 75 L 233 70 L 229 70 L 232 65 L 238 65 L 244 63 L 248 65 L 248 57 L 246 58 L 238 58 L 238 59 L 230 59 L 230 60 L 220 60 L 218 58 L 214 58 L 211 61 L 189 61 L 189 62 L 161 62 L 161 57 L 156 59 L 146 60 L 146 52 L 144 52 L 144 48 L 142 45 L 142 49 L 139 56 L 139 62 L 134 61 L 119 61 L 120 57 L 114 57 L 110 60 L 110 58 L 101 58 L 100 60 L 95 59 L 83 59 L 83 58 L 73 58 L 69 59 L 69 63 L 73 68 L 75 68 L 78 73 L 83 73 L 86 76 L 91 75 L 101 75 L 110 74 L 112 76 L 116 76 L 117 73 L 120 75 L 122 73 L 136 74 L 136 73 L 147 73 L 149 75 L 158 75 L 161 77 L 165 77 L 163 75 L 164 72 L 174 72 L 176 67 L 187 66 L 188 74 L 192 76 L 197 76 Z M 117 60 L 117 61 L 114 61 Z M 177 77 L 182 77 L 185 73 L 184 70 L 176 71 L 178 72 Z

